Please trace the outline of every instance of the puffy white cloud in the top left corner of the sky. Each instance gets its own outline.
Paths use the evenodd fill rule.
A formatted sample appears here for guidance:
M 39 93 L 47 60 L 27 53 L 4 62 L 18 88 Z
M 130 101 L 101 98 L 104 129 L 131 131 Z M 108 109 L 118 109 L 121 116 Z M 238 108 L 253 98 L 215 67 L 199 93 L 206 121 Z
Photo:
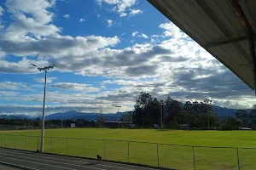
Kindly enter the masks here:
M 54 5 L 55 1 L 7 0 L 6 7 L 14 22 L 3 31 L 0 39 L 31 42 L 61 32 L 60 28 L 49 24 L 53 20 L 54 14 L 47 9 Z

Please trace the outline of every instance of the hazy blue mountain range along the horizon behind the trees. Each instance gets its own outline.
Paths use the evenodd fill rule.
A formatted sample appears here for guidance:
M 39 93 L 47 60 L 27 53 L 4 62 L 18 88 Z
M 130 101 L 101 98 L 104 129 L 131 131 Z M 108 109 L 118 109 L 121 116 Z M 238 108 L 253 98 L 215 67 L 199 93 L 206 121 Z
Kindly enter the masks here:
M 219 107 L 214 105 L 213 110 L 218 115 L 220 120 L 224 120 L 227 116 L 234 116 L 236 113 L 236 109 L 228 109 L 224 107 Z M 246 110 L 250 111 L 250 110 Z M 106 113 L 103 114 L 103 118 L 106 120 L 120 120 L 123 115 L 128 113 L 129 111 L 125 112 L 117 112 L 117 113 Z M 45 120 L 50 119 L 61 119 L 63 114 L 63 119 L 85 119 L 87 121 L 96 121 L 97 116 L 99 116 L 99 113 L 84 113 L 79 111 L 67 111 L 63 113 L 54 113 L 50 114 L 48 116 L 45 116 Z M 8 118 L 8 119 L 35 119 L 35 118 L 42 118 L 42 116 L 32 117 L 27 115 L 0 115 L 0 118 Z

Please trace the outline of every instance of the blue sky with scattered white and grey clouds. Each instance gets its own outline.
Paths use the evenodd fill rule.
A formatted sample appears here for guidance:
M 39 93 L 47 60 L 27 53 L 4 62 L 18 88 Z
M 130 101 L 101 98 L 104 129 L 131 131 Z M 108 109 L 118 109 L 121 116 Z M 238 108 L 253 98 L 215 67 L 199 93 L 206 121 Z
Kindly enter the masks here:
M 0 1 L 0 114 L 131 111 L 141 92 L 245 109 L 253 90 L 146 0 Z

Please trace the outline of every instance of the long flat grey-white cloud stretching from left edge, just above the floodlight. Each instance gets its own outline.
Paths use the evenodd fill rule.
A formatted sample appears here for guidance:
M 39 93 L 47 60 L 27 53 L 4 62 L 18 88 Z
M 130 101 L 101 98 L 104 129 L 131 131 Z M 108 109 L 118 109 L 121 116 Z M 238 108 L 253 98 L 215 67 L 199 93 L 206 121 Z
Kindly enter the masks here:
M 61 37 L 52 36 L 32 42 L 9 42 L 0 39 L 0 48 L 5 54 L 18 56 L 49 55 L 83 55 L 99 48 L 114 46 L 119 42 L 119 37 Z M 89 56 L 90 57 L 90 56 Z

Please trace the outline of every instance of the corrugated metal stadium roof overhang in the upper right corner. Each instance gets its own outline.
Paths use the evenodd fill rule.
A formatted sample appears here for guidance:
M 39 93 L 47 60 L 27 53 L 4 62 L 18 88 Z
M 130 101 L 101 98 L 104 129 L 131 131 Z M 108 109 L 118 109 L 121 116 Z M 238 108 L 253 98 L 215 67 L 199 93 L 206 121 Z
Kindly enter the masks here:
M 148 2 L 255 89 L 256 0 Z

